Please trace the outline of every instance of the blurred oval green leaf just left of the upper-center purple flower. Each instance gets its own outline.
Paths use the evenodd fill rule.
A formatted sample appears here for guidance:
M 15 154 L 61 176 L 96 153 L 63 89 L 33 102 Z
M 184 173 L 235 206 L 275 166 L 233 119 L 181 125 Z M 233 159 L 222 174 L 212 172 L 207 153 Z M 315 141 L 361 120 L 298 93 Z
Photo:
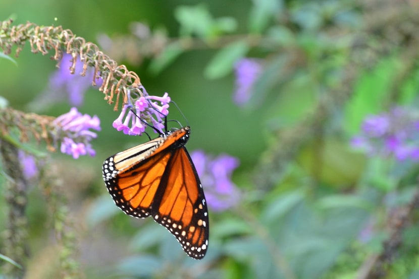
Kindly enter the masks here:
M 234 66 L 234 63 L 242 58 L 249 46 L 244 41 L 237 41 L 220 49 L 209 61 L 204 69 L 204 76 L 208 79 L 219 79 L 227 76 Z

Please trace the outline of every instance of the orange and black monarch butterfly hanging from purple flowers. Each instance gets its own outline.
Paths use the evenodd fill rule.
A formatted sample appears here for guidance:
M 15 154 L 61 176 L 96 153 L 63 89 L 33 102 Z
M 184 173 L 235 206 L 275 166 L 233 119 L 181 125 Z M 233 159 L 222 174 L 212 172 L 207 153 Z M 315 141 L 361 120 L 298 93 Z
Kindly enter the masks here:
M 208 246 L 208 211 L 185 144 L 189 126 L 161 133 L 104 161 L 103 180 L 121 210 L 169 230 L 188 256 L 201 259 Z

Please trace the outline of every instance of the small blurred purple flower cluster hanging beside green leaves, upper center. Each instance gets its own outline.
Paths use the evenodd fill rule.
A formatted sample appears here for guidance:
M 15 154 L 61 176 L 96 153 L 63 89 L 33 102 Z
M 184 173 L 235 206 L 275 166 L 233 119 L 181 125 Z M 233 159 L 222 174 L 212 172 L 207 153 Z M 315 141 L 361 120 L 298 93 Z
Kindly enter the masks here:
M 253 84 L 262 71 L 262 66 L 257 59 L 243 58 L 235 65 L 236 90 L 234 102 L 238 106 L 246 104 L 251 97 Z

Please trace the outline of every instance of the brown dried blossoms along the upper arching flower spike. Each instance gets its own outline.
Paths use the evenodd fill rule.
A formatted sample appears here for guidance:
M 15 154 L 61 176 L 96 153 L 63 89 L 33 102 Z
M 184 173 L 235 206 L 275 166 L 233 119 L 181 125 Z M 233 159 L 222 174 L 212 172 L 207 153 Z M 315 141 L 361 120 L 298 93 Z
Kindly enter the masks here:
M 61 60 L 63 50 L 71 54 L 72 74 L 77 59 L 83 62 L 82 76 L 85 75 L 87 66 L 94 67 L 92 85 L 95 85 L 95 80 L 99 77 L 103 80 L 99 91 L 103 92 L 104 99 L 109 104 L 114 103 L 116 95 L 114 110 L 118 110 L 121 92 L 124 103 L 127 101 L 127 92 L 142 95 L 138 89 L 141 81 L 137 74 L 128 71 L 125 65 L 118 65 L 115 60 L 100 51 L 97 45 L 77 37 L 71 30 L 63 30 L 62 26 L 38 26 L 30 22 L 16 26 L 12 26 L 12 20 L 0 22 L 0 47 L 5 54 L 10 54 L 12 47 L 16 46 L 18 56 L 26 41 L 29 41 L 33 53 L 40 52 L 46 55 L 50 49 L 54 49 L 55 54 L 51 57 L 54 60 Z

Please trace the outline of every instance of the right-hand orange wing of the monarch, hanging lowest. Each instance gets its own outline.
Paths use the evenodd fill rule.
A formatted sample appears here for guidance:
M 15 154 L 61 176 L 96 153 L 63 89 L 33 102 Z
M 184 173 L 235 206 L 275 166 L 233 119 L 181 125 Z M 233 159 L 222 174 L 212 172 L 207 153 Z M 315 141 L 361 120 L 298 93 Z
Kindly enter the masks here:
M 154 221 L 177 238 L 186 254 L 202 258 L 208 246 L 208 212 L 202 185 L 184 147 L 174 151 L 161 184 L 166 186 L 156 193 L 161 198 L 152 206 Z

